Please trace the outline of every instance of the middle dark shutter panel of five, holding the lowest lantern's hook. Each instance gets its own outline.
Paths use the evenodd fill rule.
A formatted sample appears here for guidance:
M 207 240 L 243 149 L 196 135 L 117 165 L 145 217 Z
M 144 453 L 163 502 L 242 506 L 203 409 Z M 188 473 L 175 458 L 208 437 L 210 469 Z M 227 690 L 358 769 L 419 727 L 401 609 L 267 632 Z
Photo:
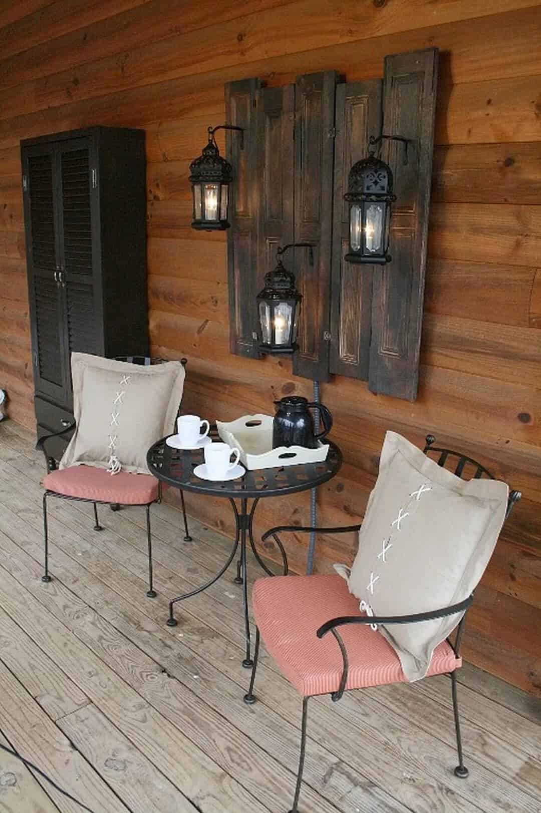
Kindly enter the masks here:
M 294 268 L 303 302 L 299 350 L 293 357 L 293 372 L 321 381 L 329 380 L 334 96 L 337 81 L 336 72 L 326 71 L 299 76 L 295 82 L 294 240 L 311 242 L 315 247 L 313 267 L 308 262 L 308 250 L 295 250 Z

